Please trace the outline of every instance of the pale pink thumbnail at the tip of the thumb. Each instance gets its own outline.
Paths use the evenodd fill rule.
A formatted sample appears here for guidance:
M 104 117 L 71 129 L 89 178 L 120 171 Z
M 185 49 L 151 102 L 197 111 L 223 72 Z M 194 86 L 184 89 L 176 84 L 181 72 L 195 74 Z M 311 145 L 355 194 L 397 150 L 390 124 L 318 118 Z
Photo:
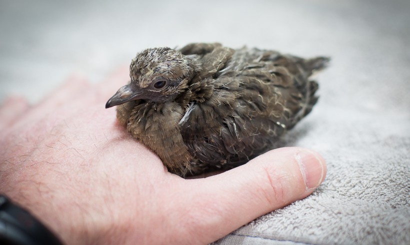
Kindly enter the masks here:
M 319 186 L 323 179 L 323 162 L 313 152 L 301 150 L 295 155 L 308 189 Z

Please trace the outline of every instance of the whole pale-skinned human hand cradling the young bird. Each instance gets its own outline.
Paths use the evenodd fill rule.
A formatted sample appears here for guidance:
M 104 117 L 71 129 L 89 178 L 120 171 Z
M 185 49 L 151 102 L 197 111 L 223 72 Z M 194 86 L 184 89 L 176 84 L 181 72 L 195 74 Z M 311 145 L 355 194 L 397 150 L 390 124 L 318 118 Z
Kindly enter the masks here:
M 205 178 L 167 172 L 104 109 L 127 79 L 126 68 L 97 84 L 70 77 L 37 104 L 0 107 L 0 192 L 64 243 L 205 244 L 323 181 L 324 159 L 297 147 Z

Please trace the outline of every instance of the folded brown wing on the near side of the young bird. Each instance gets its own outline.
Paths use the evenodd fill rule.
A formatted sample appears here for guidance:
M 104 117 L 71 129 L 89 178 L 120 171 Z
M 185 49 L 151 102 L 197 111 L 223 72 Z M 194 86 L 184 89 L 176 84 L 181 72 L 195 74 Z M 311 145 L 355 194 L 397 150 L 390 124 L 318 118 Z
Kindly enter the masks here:
M 212 52 L 217 54 L 218 49 L 222 47 Z M 221 62 L 223 55 L 211 53 L 209 64 L 204 62 L 211 72 L 203 71 L 206 75 L 197 81 L 211 86 L 208 96 L 193 105 L 181 130 L 184 142 L 202 162 L 246 162 L 271 148 L 316 101 L 317 84 L 308 80 L 311 70 L 304 59 L 242 48 Z

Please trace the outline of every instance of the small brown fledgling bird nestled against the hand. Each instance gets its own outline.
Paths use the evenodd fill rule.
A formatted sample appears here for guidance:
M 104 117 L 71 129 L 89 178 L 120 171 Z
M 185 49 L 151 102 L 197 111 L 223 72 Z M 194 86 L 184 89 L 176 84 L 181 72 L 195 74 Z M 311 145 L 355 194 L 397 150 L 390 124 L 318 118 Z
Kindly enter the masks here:
M 230 169 L 274 147 L 316 103 L 310 76 L 330 58 L 190 43 L 147 48 L 108 99 L 116 117 L 182 177 Z

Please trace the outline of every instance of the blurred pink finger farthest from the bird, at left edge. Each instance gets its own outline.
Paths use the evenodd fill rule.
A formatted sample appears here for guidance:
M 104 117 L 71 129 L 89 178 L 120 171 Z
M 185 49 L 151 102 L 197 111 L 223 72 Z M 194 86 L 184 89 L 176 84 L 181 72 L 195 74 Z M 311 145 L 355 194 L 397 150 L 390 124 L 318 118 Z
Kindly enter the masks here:
M 11 96 L 0 106 L 0 128 L 7 128 L 21 113 L 28 109 L 27 100 L 19 96 Z

